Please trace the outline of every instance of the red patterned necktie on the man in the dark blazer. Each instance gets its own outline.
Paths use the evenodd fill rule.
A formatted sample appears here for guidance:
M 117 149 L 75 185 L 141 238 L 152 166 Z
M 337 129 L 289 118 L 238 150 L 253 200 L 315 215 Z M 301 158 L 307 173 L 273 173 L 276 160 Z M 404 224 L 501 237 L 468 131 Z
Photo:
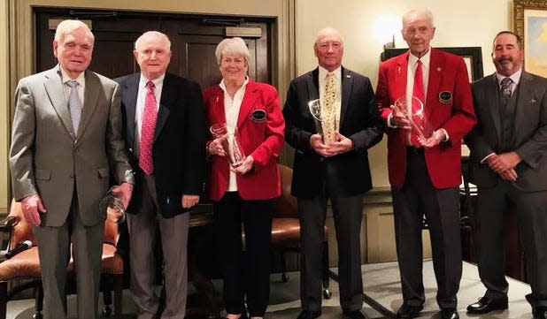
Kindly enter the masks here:
M 158 104 L 154 95 L 154 83 L 146 83 L 147 91 L 144 99 L 143 122 L 141 123 L 141 149 L 139 154 L 139 166 L 147 174 L 154 171 L 152 160 L 152 142 L 154 141 L 154 130 L 158 118 Z

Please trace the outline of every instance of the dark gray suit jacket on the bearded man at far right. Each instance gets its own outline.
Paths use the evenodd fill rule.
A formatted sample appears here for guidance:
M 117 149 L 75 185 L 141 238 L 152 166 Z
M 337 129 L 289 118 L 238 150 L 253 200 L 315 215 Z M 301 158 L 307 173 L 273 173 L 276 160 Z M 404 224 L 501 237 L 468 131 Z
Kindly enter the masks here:
M 501 144 L 496 74 L 475 81 L 472 88 L 478 118 L 466 137 L 471 149 L 472 178 L 479 187 L 493 187 L 500 177 L 481 161 L 499 149 L 507 149 Z M 514 144 L 510 147 L 522 158 L 515 168 L 519 177 L 513 185 L 527 192 L 547 190 L 547 79 L 522 72 L 513 133 Z

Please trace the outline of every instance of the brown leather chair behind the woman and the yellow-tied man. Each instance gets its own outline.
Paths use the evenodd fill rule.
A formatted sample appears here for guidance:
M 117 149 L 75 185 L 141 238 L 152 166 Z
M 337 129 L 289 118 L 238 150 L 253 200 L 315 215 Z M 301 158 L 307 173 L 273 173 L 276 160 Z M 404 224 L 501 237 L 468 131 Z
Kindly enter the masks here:
M 289 281 L 285 254 L 287 251 L 300 252 L 300 222 L 298 220 L 297 198 L 290 194 L 292 169 L 277 165 L 281 178 L 281 196 L 274 201 L 272 219 L 272 247 L 281 253 L 281 280 Z M 323 237 L 323 297 L 330 299 L 328 289 L 330 270 L 328 270 L 328 228 L 325 225 Z

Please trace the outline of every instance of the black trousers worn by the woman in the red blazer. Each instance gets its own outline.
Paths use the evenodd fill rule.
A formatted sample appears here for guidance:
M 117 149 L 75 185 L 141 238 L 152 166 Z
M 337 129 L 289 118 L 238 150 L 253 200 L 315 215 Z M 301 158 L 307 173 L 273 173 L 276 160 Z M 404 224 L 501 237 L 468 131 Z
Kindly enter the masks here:
M 214 203 L 223 296 L 228 314 L 243 314 L 245 298 L 250 316 L 266 313 L 270 296 L 272 203 L 272 200 L 243 200 L 237 192 L 227 192 Z

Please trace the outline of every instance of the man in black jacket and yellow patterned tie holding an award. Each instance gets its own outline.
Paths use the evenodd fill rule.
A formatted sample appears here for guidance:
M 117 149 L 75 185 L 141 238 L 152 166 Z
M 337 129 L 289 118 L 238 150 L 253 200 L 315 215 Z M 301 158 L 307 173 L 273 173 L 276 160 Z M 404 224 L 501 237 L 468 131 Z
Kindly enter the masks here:
M 370 80 L 342 66 L 340 33 L 331 27 L 320 30 L 313 49 L 319 67 L 292 80 L 283 109 L 285 139 L 296 148 L 292 194 L 298 198 L 300 218 L 303 308 L 298 318 L 321 315 L 321 242 L 329 199 L 338 242 L 340 305 L 344 317 L 364 318 L 359 239 L 363 197 L 372 188 L 367 149 L 381 141 L 383 124 Z M 324 116 L 333 107 L 330 128 L 325 118 L 323 128 L 316 128 L 308 103 L 317 99 Z

